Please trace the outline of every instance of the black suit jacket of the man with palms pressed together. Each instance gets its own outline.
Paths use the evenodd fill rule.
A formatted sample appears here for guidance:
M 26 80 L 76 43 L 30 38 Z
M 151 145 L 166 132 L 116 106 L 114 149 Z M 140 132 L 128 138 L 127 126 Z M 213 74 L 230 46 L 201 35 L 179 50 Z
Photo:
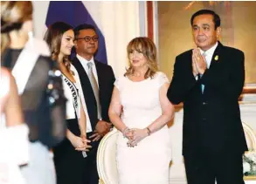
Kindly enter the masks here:
M 167 92 L 173 104 L 183 102 L 183 155 L 201 149 L 244 153 L 238 102 L 245 82 L 244 53 L 218 42 L 210 68 L 198 80 L 192 74 L 191 58 L 192 50 L 176 57 Z

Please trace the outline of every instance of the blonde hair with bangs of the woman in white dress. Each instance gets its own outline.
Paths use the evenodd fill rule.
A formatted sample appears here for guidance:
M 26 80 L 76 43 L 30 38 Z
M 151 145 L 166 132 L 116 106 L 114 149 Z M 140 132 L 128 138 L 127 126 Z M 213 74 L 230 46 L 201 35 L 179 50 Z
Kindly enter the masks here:
M 144 78 L 153 78 L 158 71 L 157 61 L 156 61 L 156 44 L 149 37 L 135 37 L 132 39 L 127 46 L 127 53 L 139 51 L 142 52 L 143 56 L 147 58 L 149 69 L 145 73 Z M 124 76 L 134 74 L 135 69 L 129 63 L 129 67 Z

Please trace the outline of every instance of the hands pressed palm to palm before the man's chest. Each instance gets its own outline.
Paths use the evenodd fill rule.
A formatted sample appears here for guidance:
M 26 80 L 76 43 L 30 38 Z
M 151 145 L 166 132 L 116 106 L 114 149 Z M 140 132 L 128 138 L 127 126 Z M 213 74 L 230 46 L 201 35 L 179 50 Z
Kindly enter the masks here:
M 196 77 L 198 74 L 203 75 L 207 68 L 206 59 L 201 55 L 199 48 L 192 51 L 192 69 L 193 75 Z

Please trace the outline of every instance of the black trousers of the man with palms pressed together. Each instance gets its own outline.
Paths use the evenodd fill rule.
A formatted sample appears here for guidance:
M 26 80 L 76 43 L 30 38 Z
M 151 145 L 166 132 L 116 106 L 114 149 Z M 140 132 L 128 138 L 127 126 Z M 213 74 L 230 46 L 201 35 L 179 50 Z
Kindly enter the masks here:
M 245 184 L 240 153 L 194 152 L 184 155 L 188 184 Z

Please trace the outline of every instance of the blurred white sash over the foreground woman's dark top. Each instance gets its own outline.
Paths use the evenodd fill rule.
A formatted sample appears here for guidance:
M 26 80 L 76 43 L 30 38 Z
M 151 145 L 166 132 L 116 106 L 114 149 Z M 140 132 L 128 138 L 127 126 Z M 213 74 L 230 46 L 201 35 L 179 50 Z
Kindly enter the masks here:
M 24 92 L 24 87 L 40 55 L 50 56 L 49 48 L 45 41 L 32 38 L 18 56 L 11 73 L 16 80 L 19 95 Z

